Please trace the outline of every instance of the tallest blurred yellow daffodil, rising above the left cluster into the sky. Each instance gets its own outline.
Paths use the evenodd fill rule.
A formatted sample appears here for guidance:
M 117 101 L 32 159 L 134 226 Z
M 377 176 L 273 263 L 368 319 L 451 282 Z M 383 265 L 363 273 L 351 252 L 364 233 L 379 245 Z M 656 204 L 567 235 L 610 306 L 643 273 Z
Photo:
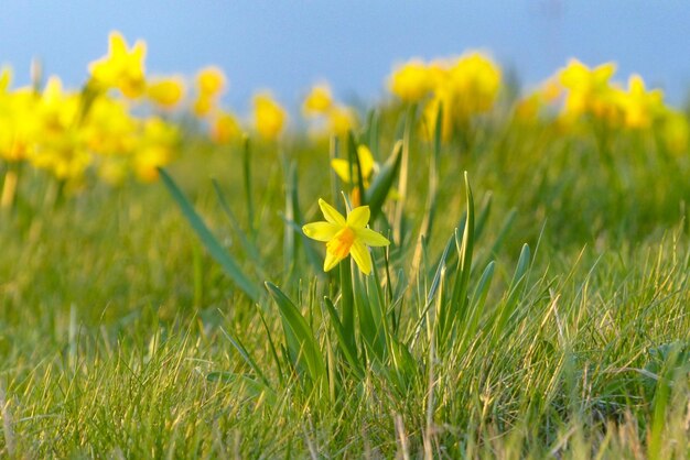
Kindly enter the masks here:
M 89 65 L 91 78 L 106 88 L 117 88 L 130 99 L 138 98 L 145 90 L 143 59 L 147 45 L 134 43 L 131 51 L 119 32 L 111 32 L 108 55 Z

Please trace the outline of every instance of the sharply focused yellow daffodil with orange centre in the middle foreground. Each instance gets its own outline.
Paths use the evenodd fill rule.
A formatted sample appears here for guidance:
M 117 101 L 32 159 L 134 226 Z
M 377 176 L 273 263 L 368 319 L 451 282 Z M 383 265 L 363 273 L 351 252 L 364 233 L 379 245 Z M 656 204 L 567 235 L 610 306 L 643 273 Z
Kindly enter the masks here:
M 302 227 L 302 231 L 309 238 L 326 243 L 324 272 L 332 270 L 352 254 L 362 273 L 365 275 L 371 273 L 371 254 L 367 245 L 385 247 L 390 244 L 390 241 L 367 228 L 369 207 L 359 206 L 348 212 L 347 218 L 321 198 L 319 207 L 326 221 L 308 223 Z

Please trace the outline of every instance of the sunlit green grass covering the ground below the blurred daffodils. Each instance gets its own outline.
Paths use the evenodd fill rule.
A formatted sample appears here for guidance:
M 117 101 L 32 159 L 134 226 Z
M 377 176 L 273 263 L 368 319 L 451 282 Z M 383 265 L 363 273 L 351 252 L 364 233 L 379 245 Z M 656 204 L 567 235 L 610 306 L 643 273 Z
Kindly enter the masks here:
M 387 117 L 381 162 L 402 138 Z M 690 454 L 687 157 L 625 134 L 607 165 L 586 133 L 488 122 L 438 152 L 417 250 L 433 145 L 410 132 L 401 227 L 390 201 L 375 222 L 400 240 L 364 277 L 348 261 L 324 275 L 323 244 L 285 223 L 335 202 L 328 149 L 254 145 L 251 226 L 239 146 L 188 141 L 170 171 L 257 302 L 162 183 L 50 207 L 24 177 L 0 221 L 3 454 Z

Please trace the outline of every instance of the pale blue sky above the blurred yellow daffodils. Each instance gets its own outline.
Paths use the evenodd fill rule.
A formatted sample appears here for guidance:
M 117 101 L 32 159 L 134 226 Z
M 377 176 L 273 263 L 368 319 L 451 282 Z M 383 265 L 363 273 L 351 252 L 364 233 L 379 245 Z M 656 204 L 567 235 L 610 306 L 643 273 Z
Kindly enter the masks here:
M 331 81 L 342 99 L 376 98 L 391 66 L 468 48 L 490 51 L 520 80 L 537 84 L 578 57 L 618 63 L 679 105 L 690 92 L 690 4 L 684 1 L 0 1 L 0 63 L 19 84 L 40 57 L 68 86 L 107 52 L 107 35 L 148 43 L 150 73 L 193 75 L 216 64 L 227 101 L 245 107 L 271 88 L 294 105 L 310 84 Z

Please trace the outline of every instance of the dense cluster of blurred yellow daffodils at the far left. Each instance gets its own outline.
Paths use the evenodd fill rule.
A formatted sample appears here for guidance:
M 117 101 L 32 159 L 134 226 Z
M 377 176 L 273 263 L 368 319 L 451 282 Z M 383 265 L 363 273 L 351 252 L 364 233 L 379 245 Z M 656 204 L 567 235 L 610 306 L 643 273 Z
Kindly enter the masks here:
M 80 90 L 65 89 L 51 76 L 43 87 L 11 88 L 0 78 L 0 157 L 45 169 L 78 188 L 89 174 L 110 184 L 128 175 L 153 180 L 168 164 L 177 129 L 159 116 L 137 117 L 133 101 L 171 108 L 182 97 L 175 78 L 145 78 L 145 45 L 131 50 L 119 33 L 110 35 L 106 57 L 89 66 Z

